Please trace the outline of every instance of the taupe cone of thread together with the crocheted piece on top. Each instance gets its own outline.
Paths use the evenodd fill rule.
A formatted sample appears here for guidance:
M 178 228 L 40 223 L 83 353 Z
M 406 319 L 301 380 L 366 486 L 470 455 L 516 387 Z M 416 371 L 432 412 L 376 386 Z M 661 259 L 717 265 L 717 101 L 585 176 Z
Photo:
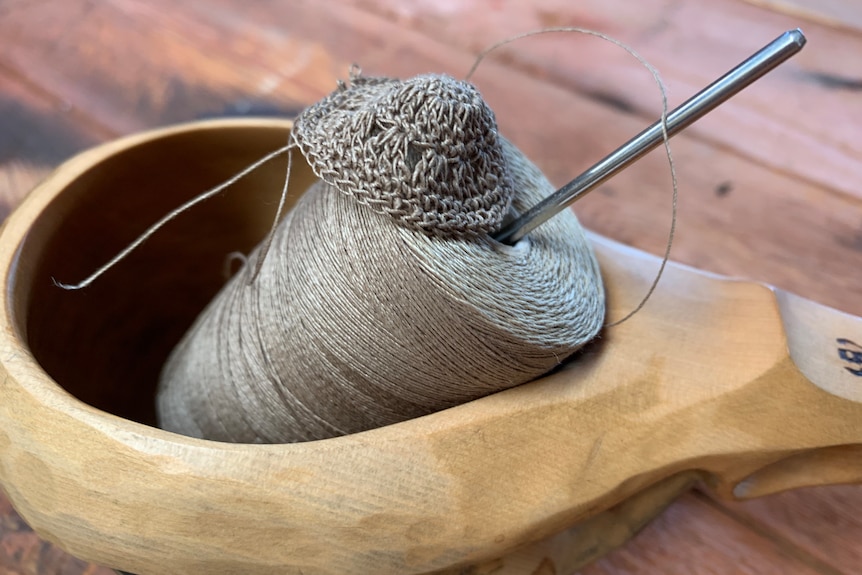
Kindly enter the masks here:
M 162 427 L 354 433 L 528 382 L 598 333 L 601 277 L 574 214 L 515 246 L 490 237 L 553 188 L 472 85 L 352 75 L 292 137 L 320 182 L 173 351 Z

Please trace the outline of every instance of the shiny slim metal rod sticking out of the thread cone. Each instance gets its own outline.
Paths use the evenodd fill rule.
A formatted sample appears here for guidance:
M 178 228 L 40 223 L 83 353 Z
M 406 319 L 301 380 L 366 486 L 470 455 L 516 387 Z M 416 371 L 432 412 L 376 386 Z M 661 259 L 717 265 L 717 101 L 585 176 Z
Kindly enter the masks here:
M 737 92 L 799 52 L 805 45 L 802 30 L 785 32 L 736 68 L 686 100 L 667 115 L 668 137 L 687 128 Z M 624 168 L 630 166 L 664 140 L 661 120 L 623 144 L 611 155 L 503 226 L 494 238 L 514 244 Z

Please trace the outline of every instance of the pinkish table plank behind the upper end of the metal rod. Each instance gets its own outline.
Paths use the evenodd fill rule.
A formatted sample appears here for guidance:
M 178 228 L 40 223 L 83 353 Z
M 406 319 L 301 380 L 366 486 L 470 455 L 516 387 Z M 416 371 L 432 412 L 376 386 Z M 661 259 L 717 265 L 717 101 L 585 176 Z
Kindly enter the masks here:
M 862 197 L 862 61 L 835 54 L 862 51 L 862 34 L 732 0 L 625 0 L 463 3 L 354 0 L 427 36 L 476 53 L 526 30 L 584 26 L 629 43 L 663 74 L 679 103 L 784 30 L 804 25 L 809 46 L 689 132 L 772 169 Z M 659 95 L 651 76 L 619 48 L 559 34 L 520 41 L 498 56 L 561 86 L 654 119 Z M 856 86 L 856 88 L 854 88 Z M 840 103 L 824 106 L 825 100 Z M 744 134 L 744 137 L 740 137 Z

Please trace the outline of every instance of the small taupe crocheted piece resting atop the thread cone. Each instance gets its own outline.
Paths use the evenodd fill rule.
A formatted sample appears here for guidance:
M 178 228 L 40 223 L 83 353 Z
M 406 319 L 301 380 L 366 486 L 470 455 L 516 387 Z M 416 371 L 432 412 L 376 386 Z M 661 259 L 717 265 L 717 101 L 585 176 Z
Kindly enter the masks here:
M 428 234 L 493 233 L 513 196 L 494 113 L 471 84 L 351 73 L 296 119 L 319 178 Z

